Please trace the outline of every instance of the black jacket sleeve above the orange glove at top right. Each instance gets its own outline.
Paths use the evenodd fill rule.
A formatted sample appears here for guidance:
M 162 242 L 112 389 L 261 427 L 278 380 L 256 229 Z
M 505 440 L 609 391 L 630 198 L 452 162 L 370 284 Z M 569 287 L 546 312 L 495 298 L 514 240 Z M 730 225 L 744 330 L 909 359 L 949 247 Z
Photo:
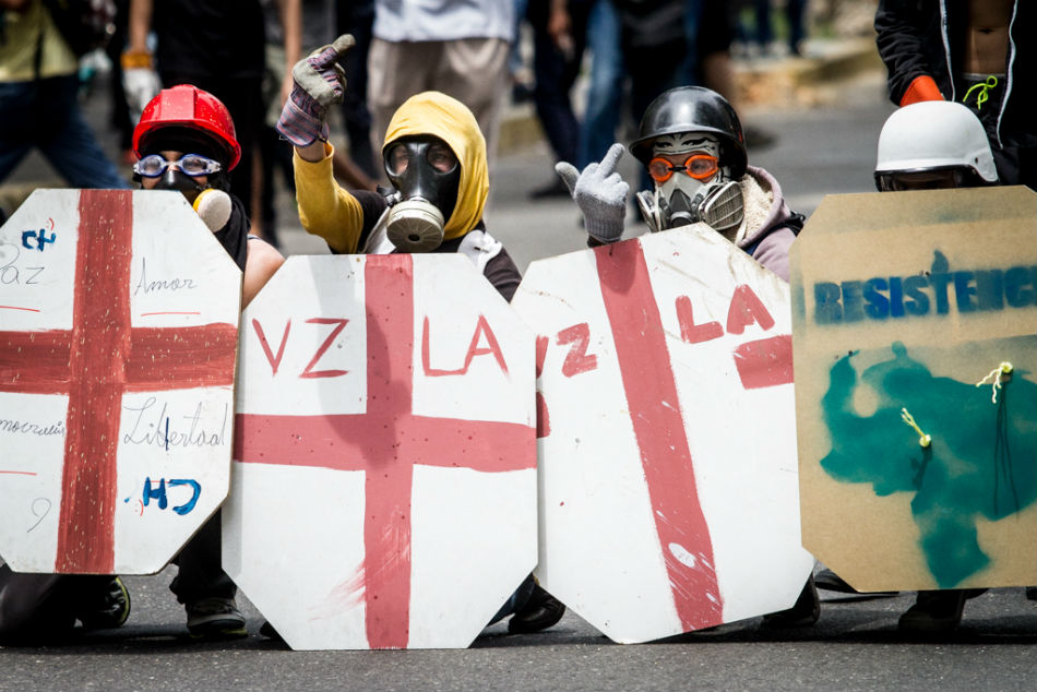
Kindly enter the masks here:
M 940 8 L 934 0 L 879 0 L 875 11 L 875 45 L 889 70 L 890 100 L 897 106 L 917 77 L 928 74 L 937 80 L 932 64 L 933 41 L 939 41 Z

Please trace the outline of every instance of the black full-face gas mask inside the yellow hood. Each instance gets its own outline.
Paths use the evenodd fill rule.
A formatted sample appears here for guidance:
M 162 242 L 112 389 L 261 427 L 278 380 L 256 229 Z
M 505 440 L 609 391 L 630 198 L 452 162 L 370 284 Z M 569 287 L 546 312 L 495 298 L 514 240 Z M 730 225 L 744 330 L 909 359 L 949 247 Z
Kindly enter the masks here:
M 384 150 L 385 172 L 396 192 L 385 234 L 401 252 L 431 252 L 443 242 L 454 212 L 461 164 L 450 146 L 432 135 L 406 136 Z

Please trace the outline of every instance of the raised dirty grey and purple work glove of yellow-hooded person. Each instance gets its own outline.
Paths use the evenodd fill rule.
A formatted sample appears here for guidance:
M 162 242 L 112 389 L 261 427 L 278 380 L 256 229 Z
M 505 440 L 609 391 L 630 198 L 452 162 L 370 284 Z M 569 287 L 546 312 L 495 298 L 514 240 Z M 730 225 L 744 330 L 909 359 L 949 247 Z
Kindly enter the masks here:
M 331 46 L 313 51 L 291 69 L 295 86 L 281 111 L 277 132 L 296 146 L 327 141 L 327 107 L 342 103 L 346 90 L 338 56 L 354 44 L 353 36 L 343 34 Z

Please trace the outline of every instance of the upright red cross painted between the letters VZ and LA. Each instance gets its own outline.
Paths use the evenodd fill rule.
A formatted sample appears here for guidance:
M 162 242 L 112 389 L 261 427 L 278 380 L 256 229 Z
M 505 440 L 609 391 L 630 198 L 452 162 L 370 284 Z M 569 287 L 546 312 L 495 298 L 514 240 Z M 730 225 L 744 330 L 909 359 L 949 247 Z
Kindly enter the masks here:
M 371 648 L 404 648 L 410 619 L 414 466 L 480 472 L 536 468 L 536 431 L 510 422 L 433 418 L 412 410 L 414 272 L 409 254 L 368 255 L 367 411 L 239 414 L 235 458 L 365 474 L 363 599 Z

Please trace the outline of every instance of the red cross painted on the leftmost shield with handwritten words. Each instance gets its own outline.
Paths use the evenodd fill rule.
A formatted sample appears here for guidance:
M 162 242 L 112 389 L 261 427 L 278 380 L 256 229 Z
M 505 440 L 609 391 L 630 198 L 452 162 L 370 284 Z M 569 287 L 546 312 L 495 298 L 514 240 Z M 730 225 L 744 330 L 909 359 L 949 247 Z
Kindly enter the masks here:
M 123 392 L 234 384 L 237 326 L 133 327 L 128 190 L 82 190 L 71 330 L 0 332 L 0 391 L 67 394 L 55 572 L 111 573 Z

